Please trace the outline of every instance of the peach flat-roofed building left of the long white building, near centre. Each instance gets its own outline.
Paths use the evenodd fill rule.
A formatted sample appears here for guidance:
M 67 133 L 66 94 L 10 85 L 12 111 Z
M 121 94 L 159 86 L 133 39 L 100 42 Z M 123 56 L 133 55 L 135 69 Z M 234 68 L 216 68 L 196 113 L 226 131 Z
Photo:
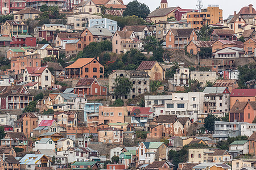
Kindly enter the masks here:
M 125 116 L 128 116 L 128 112 L 131 112 L 133 107 L 108 107 L 99 106 L 98 124 L 110 124 L 110 123 L 124 123 Z

